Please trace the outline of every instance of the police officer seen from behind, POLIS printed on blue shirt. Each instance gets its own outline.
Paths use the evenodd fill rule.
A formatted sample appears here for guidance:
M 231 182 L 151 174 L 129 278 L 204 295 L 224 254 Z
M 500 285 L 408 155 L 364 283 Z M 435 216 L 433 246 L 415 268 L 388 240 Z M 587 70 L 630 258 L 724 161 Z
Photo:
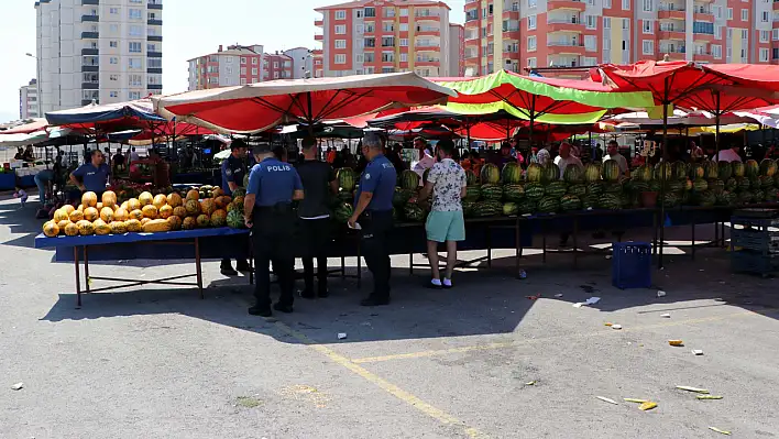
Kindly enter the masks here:
M 268 144 L 255 146 L 253 153 L 257 164 L 249 174 L 249 187 L 243 202 L 244 220 L 246 227 L 252 229 L 254 240 L 256 276 L 256 304 L 249 308 L 249 314 L 270 317 L 271 261 L 282 288 L 282 296 L 273 308 L 282 312 L 293 311 L 293 235 L 296 219 L 292 202 L 303 199 L 303 184 L 297 171 L 290 164 L 278 161 Z

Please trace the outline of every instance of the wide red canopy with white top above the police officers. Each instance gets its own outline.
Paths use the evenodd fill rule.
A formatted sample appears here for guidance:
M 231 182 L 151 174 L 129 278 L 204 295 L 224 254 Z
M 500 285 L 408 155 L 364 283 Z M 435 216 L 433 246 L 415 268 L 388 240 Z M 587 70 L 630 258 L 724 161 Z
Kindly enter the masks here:
M 219 132 L 255 133 L 283 122 L 315 124 L 395 107 L 440 103 L 457 96 L 413 72 L 340 78 L 281 79 L 153 97 L 168 119 Z

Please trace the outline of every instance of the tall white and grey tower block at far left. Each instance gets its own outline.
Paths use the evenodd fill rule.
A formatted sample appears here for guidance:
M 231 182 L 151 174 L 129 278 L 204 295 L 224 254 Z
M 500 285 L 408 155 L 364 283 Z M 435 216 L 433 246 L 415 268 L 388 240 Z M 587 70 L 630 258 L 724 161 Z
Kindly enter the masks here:
M 42 112 L 162 92 L 162 0 L 35 2 Z

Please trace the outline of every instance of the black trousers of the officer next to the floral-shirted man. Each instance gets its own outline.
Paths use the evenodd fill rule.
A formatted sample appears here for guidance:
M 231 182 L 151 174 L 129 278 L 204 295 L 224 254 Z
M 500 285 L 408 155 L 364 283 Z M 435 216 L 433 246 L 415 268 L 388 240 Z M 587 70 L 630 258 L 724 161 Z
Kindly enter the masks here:
M 361 246 L 367 270 L 373 275 L 371 296 L 377 299 L 390 297 L 388 235 L 393 228 L 392 210 L 369 211 L 360 218 Z

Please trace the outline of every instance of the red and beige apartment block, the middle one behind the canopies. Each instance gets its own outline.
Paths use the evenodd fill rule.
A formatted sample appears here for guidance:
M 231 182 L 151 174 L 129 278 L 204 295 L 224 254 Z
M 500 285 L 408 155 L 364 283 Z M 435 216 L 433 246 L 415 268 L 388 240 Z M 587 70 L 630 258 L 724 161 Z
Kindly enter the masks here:
M 435 0 L 356 0 L 317 8 L 322 43 L 314 53 L 315 76 L 451 72 L 449 7 Z

